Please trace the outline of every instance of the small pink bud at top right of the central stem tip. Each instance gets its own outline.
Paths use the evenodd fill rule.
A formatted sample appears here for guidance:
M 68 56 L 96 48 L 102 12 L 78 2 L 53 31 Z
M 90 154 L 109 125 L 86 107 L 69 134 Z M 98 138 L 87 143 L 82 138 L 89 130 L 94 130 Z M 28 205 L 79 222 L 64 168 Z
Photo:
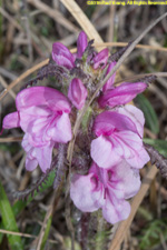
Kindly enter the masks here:
M 98 69 L 100 66 L 104 68 L 108 60 L 108 49 L 101 50 L 97 56 L 94 58 L 94 69 Z

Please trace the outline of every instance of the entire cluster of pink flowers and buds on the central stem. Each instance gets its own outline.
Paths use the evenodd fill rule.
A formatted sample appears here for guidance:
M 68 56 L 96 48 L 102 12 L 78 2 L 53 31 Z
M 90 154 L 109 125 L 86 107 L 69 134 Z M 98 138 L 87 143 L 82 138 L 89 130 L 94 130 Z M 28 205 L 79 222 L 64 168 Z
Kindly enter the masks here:
M 78 110 L 117 63 L 110 60 L 108 49 L 95 51 L 85 32 L 79 34 L 76 54 L 60 42 L 53 43 L 52 61 L 68 76 L 63 79 L 62 73 L 66 88 L 61 91 L 41 86 L 27 88 L 17 96 L 17 111 L 3 119 L 3 129 L 20 127 L 24 132 L 22 147 L 29 171 L 38 164 L 42 172 L 50 169 L 53 147 L 71 140 L 71 124 Z M 70 188 L 77 208 L 84 212 L 101 208 L 110 223 L 129 216 L 130 206 L 126 200 L 138 192 L 139 169 L 149 161 L 143 146 L 143 112 L 126 104 L 147 83 L 125 82 L 116 87 L 115 77 L 109 78 L 91 107 L 90 168 L 86 176 L 73 171 Z

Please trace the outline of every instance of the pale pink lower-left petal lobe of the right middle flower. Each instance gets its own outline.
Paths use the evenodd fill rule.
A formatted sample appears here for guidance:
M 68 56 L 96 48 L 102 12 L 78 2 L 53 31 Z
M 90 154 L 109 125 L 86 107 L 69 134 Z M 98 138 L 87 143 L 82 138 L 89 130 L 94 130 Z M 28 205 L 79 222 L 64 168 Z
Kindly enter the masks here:
M 91 141 L 90 154 L 94 161 L 105 169 L 111 168 L 121 161 L 111 142 L 102 136 Z

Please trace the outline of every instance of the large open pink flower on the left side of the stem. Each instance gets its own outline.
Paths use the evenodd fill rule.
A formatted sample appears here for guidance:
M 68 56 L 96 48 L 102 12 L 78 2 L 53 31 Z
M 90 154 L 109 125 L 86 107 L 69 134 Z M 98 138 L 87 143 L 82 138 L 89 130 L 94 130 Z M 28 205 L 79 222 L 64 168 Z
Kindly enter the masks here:
M 21 127 L 26 132 L 22 147 L 27 152 L 27 170 L 33 170 L 39 163 L 46 172 L 55 143 L 71 140 L 69 101 L 55 89 L 32 87 L 19 92 L 16 106 L 18 111 L 4 117 L 3 128 Z

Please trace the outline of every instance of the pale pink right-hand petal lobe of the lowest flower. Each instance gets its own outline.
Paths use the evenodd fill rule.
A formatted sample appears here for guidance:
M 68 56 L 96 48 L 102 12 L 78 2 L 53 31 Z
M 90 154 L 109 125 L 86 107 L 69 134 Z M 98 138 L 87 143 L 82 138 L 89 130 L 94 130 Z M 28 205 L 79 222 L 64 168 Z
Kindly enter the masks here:
M 125 174 L 126 172 L 126 174 Z M 119 183 L 124 190 L 124 198 L 134 197 L 140 189 L 140 176 L 138 169 L 132 169 L 125 160 L 111 169 L 111 183 Z

